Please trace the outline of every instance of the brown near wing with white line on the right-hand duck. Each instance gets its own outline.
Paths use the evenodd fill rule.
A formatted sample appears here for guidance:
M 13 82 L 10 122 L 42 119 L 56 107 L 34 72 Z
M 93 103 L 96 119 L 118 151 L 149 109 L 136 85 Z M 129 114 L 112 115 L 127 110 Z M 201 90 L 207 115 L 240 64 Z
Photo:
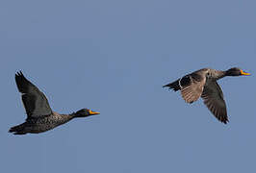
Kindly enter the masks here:
M 192 103 L 201 96 L 205 85 L 205 75 L 192 73 L 181 78 L 178 83 L 181 95 L 187 103 Z

